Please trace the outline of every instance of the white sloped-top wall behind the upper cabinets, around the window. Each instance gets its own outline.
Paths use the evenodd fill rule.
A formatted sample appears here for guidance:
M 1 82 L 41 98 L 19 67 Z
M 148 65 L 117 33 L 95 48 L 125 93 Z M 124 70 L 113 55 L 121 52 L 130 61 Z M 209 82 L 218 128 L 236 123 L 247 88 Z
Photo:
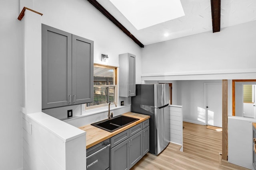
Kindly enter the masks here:
M 42 23 L 94 41 L 94 63 L 102 63 L 101 54 L 107 54 L 108 65 L 119 66 L 119 54 L 129 52 L 136 55 L 136 83 L 141 83 L 141 48 L 88 1 L 34 0 L 33 7 L 43 14 Z M 129 99 L 123 98 L 118 104 L 122 100 L 130 104 Z M 81 114 L 81 105 L 46 109 L 43 112 L 64 119 L 68 109 L 73 109 L 73 115 Z

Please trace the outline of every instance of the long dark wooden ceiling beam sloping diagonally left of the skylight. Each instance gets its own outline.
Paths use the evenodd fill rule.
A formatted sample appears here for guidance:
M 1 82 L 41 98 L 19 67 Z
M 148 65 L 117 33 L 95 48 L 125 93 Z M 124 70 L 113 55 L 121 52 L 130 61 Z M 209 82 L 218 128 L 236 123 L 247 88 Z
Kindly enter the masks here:
M 112 16 L 102 5 L 100 5 L 96 0 L 88 0 L 97 10 L 99 10 L 104 16 L 106 16 L 110 21 L 112 21 L 118 28 L 120 28 L 128 37 L 130 37 L 136 44 L 140 47 L 144 47 L 144 45 L 128 31 L 124 25 L 122 25 L 114 16 Z

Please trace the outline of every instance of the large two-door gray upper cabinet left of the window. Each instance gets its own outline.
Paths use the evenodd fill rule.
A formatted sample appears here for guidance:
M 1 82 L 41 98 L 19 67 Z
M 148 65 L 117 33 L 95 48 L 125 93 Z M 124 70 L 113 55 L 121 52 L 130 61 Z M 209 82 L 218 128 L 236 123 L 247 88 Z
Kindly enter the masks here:
M 42 109 L 93 101 L 93 41 L 42 24 Z

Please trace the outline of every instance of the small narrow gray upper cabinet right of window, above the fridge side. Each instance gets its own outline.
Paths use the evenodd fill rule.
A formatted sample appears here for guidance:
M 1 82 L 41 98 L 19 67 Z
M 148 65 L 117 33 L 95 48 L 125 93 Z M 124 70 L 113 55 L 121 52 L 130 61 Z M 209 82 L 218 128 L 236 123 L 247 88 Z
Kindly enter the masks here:
M 119 96 L 136 96 L 136 56 L 130 53 L 119 55 Z

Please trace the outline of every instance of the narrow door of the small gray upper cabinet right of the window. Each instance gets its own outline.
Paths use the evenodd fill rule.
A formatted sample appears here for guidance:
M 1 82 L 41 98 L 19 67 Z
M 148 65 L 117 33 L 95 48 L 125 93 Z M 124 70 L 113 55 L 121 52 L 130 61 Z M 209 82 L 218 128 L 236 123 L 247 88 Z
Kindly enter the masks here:
M 128 53 L 128 97 L 136 95 L 135 55 Z

